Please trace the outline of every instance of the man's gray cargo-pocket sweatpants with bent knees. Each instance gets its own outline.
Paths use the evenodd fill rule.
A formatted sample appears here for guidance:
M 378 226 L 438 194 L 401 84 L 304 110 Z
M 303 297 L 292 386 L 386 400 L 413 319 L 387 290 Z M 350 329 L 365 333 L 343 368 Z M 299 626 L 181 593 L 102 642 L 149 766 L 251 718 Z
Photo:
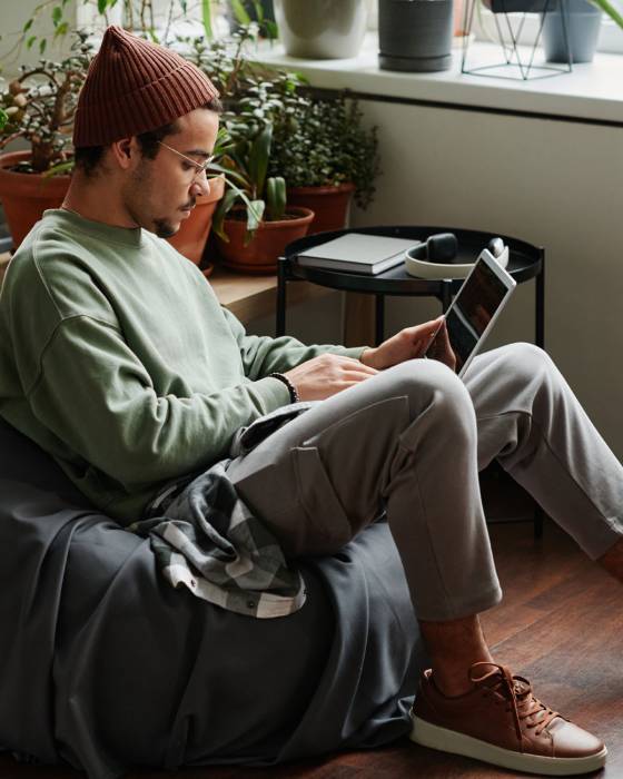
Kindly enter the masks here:
M 464 381 L 433 359 L 319 402 L 229 476 L 288 556 L 334 553 L 386 509 L 416 614 L 495 605 L 477 473 L 503 467 L 595 559 L 623 533 L 623 467 L 550 357 L 514 344 Z

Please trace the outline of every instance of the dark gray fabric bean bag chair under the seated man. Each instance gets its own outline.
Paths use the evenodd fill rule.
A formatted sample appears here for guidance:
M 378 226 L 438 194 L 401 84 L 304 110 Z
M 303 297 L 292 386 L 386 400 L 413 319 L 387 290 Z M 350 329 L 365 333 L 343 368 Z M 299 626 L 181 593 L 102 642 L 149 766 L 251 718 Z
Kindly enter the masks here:
M 134 765 L 273 765 L 408 731 L 425 662 L 386 523 L 301 562 L 297 613 L 177 591 L 0 421 L 0 746 L 90 779 Z

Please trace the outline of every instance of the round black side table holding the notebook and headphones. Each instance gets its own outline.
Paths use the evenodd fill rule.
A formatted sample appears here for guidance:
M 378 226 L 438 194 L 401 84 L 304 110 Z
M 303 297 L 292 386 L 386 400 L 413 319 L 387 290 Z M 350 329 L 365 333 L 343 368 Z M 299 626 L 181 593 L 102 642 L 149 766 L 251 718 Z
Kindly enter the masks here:
M 278 263 L 277 285 L 277 321 L 276 334 L 286 333 L 286 288 L 293 280 L 306 280 L 332 289 L 357 292 L 374 295 L 376 298 L 375 345 L 384 339 L 385 326 L 385 296 L 400 295 L 415 297 L 436 297 L 442 303 L 445 312 L 451 304 L 452 296 L 458 292 L 463 279 L 432 282 L 425 278 L 409 276 L 404 265 L 397 265 L 377 276 L 344 273 L 342 270 L 327 270 L 326 268 L 303 267 L 297 262 L 297 256 L 304 249 L 324 244 L 346 233 L 363 233 L 365 235 L 393 236 L 395 238 L 413 238 L 414 243 L 426 240 L 435 233 L 454 233 L 458 240 L 457 263 L 473 262 L 481 250 L 494 237 L 492 233 L 481 230 L 463 230 L 453 227 L 427 226 L 390 226 L 390 227 L 362 227 L 353 230 L 335 230 L 319 233 L 299 238 L 286 246 L 285 256 Z M 497 235 L 497 234 L 495 234 Z M 535 279 L 535 335 L 534 343 L 542 348 L 545 345 L 544 305 L 545 305 L 545 252 L 540 246 L 526 244 L 517 238 L 500 235 L 508 246 L 510 258 L 507 270 L 517 284 Z

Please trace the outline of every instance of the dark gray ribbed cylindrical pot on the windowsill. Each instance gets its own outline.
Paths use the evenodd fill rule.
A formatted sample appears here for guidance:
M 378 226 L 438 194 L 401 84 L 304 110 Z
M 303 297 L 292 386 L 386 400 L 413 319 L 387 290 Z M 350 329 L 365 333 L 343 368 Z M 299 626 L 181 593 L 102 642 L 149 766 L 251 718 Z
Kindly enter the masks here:
M 384 70 L 452 66 L 453 0 L 378 0 L 378 63 Z

